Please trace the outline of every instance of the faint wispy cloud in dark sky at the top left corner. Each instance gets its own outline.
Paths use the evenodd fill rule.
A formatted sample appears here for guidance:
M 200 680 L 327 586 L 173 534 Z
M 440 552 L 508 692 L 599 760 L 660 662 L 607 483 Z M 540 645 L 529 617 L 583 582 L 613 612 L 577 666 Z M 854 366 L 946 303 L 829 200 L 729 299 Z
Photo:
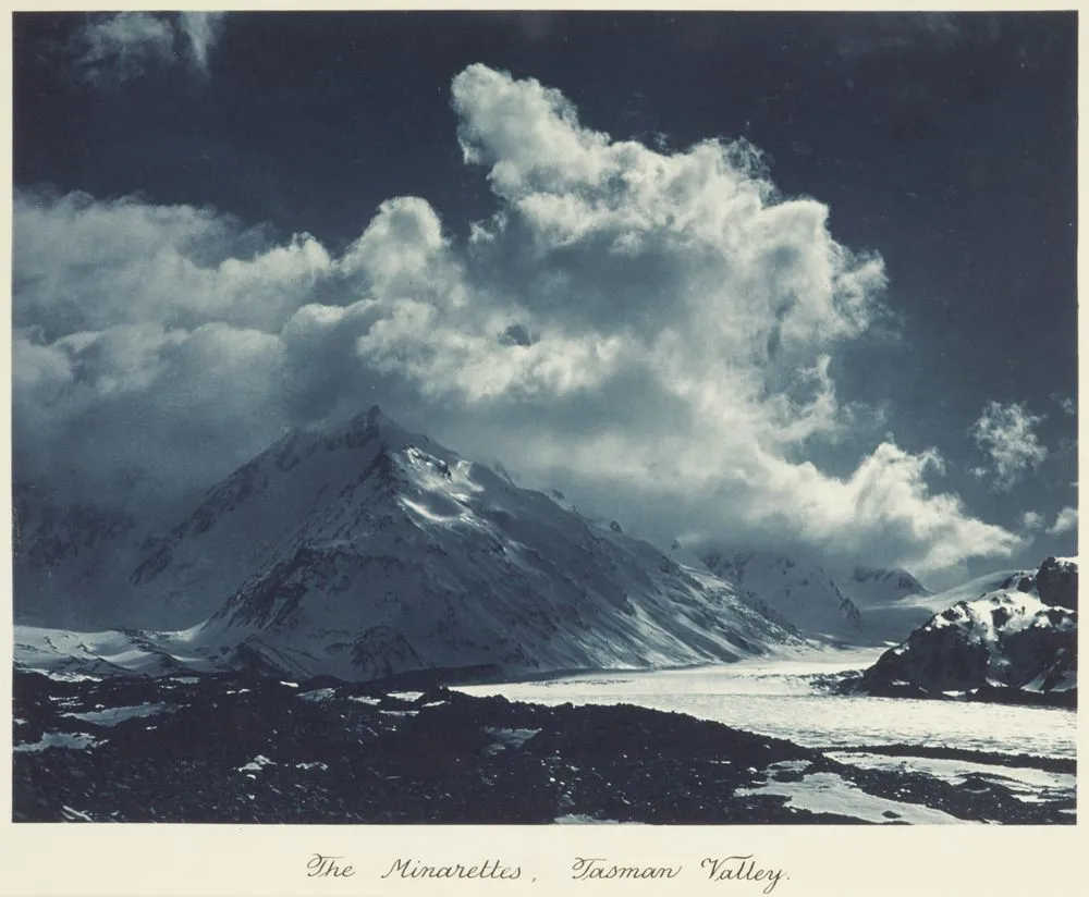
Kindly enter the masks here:
M 95 87 L 112 88 L 183 60 L 207 76 L 208 57 L 222 29 L 223 15 L 99 14 L 75 33 L 64 54 L 76 77 Z

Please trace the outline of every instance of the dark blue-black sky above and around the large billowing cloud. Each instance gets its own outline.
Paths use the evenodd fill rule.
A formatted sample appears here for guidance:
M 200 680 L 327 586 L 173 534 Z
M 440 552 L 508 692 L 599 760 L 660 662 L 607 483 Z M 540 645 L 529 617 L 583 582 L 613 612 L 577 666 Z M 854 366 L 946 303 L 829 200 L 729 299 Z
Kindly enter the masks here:
M 235 237 L 258 229 L 216 250 L 227 255 L 305 232 L 340 257 L 399 196 L 426 199 L 462 253 L 470 222 L 511 201 L 463 159 L 451 84 L 473 63 L 554 88 L 584 128 L 665 157 L 745 138 L 782 197 L 825 206 L 836 244 L 878 254 L 888 278 L 882 314 L 828 353 L 837 402 L 869 422 L 779 455 L 845 480 L 890 433 L 913 456 L 937 448 L 945 466 L 927 475 L 931 492 L 1019 533 L 1015 557 L 1073 550 L 1076 530 L 1044 530 L 1077 506 L 1076 14 L 230 14 L 201 38 L 206 59 L 172 17 L 110 33 L 105 22 L 15 15 L 16 191 L 54 213 L 74 191 L 98 204 L 210 207 L 233 217 Z M 40 279 L 21 260 L 19 208 L 15 229 L 16 333 L 44 325 L 35 339 L 49 344 L 63 330 L 56 317 L 21 317 L 22 284 Z M 54 261 L 87 263 L 63 246 Z M 23 302 L 39 309 L 50 295 Z M 28 452 L 34 433 L 83 438 L 21 418 L 19 390 L 16 378 L 16 453 L 21 423 Z M 989 403 L 1006 437 L 1027 421 L 998 437 L 1012 452 L 1005 480 L 972 435 Z M 389 410 L 477 447 L 464 415 L 431 414 L 426 396 L 402 404 Z M 534 416 L 531 403 L 481 410 L 479 396 L 466 408 L 485 429 Z M 550 439 L 568 434 L 548 427 Z M 527 476 L 590 476 L 510 454 Z M 749 537 L 771 524 L 754 526 Z

